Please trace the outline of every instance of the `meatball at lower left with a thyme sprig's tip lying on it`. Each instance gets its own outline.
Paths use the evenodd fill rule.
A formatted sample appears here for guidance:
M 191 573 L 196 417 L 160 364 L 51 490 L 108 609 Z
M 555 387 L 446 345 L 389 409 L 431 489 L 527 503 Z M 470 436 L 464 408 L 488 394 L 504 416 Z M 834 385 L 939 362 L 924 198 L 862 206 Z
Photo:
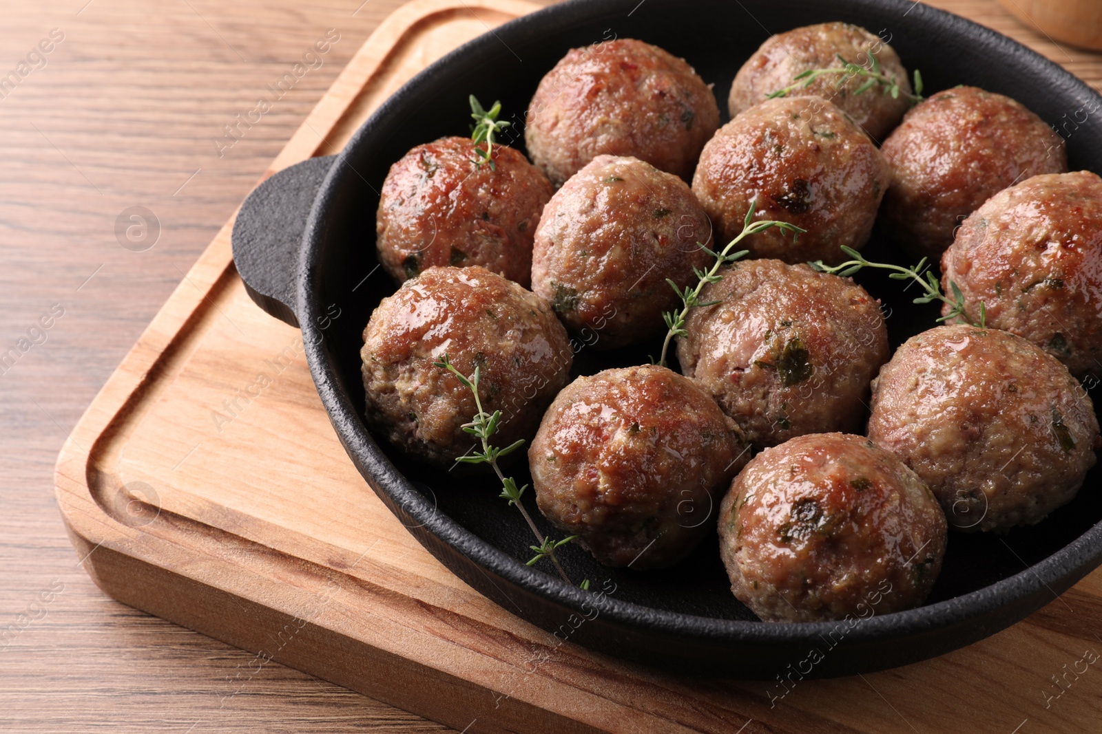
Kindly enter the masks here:
M 471 391 L 434 364 L 444 354 L 464 375 L 480 368 L 483 407 L 503 414 L 495 446 L 534 432 L 573 362 L 547 303 L 478 265 L 430 267 L 383 298 L 360 350 L 367 425 L 445 469 L 474 446 L 462 426 L 478 408 Z

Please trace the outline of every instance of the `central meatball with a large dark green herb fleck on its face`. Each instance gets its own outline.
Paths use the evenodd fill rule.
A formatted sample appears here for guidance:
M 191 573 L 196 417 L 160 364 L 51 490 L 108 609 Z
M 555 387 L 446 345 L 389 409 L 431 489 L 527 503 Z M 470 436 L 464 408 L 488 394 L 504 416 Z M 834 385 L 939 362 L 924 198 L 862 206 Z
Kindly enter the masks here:
M 879 302 L 851 278 L 750 260 L 701 293 L 678 340 L 681 370 L 756 447 L 861 430 L 868 384 L 888 358 Z

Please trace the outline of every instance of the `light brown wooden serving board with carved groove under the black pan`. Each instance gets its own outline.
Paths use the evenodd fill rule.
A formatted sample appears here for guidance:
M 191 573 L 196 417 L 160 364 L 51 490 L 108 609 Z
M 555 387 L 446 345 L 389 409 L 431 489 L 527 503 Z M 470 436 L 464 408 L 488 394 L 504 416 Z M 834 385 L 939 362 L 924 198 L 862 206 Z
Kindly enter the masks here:
M 404 6 L 267 175 L 336 153 L 417 70 L 533 9 Z M 785 684 L 625 664 L 488 602 L 357 474 L 299 332 L 246 295 L 231 226 L 88 408 L 56 473 L 73 544 L 104 591 L 256 653 L 224 701 L 276 660 L 472 733 L 1098 731 L 1102 571 L 966 649 L 828 681 L 800 680 L 793 660 Z

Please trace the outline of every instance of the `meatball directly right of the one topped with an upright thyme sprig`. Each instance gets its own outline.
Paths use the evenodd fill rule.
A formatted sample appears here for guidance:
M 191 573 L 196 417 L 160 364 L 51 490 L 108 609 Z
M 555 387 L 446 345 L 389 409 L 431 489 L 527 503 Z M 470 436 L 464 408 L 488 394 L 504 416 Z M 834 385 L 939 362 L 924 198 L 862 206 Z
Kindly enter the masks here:
M 543 210 L 532 289 L 571 330 L 595 335 L 596 349 L 639 342 L 663 333 L 662 311 L 679 303 L 667 278 L 695 285 L 693 267 L 712 262 L 698 244 L 711 247 L 711 230 L 683 180 L 598 155 Z

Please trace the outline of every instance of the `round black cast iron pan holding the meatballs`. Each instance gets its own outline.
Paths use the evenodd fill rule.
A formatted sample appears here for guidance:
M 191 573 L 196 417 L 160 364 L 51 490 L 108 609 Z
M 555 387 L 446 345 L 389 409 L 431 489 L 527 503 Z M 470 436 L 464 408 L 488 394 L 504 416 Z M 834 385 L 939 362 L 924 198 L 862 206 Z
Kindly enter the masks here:
M 410 147 L 468 130 L 468 95 L 500 99 L 504 118 L 518 123 L 512 144 L 523 150 L 519 123 L 542 75 L 571 47 L 635 37 L 687 58 L 715 84 L 722 110 L 735 72 L 770 33 L 834 20 L 889 40 L 909 69 L 921 69 L 930 91 L 969 84 L 1018 99 L 1065 135 L 1072 171 L 1102 172 L 1096 94 L 1009 39 L 923 4 L 573 0 L 507 23 L 433 64 L 388 99 L 339 156 L 277 174 L 237 218 L 238 271 L 262 308 L 301 326 L 317 392 L 367 483 L 464 581 L 572 643 L 730 677 L 771 679 L 787 675 L 790 665 L 807 676 L 871 671 L 982 639 L 1051 602 L 1102 561 L 1096 468 L 1079 496 L 1040 525 L 1004 537 L 951 535 L 931 598 L 907 612 L 841 623 L 758 622 L 731 594 L 714 537 L 668 571 L 609 570 L 580 548 L 564 548 L 571 577 L 592 581 L 585 592 L 518 560 L 528 557 L 532 540 L 493 481 L 409 462 L 365 428 L 360 335 L 379 299 L 395 289 L 376 270 L 378 189 Z M 883 239 L 867 252 L 893 258 Z M 857 280 L 890 309 L 893 346 L 933 326 L 934 307 L 911 305 L 897 282 L 865 273 Z M 658 344 L 599 355 L 583 351 L 575 371 L 645 363 L 648 353 L 658 353 Z M 542 522 L 533 502 L 529 508 Z M 821 660 L 804 670 L 812 649 Z

